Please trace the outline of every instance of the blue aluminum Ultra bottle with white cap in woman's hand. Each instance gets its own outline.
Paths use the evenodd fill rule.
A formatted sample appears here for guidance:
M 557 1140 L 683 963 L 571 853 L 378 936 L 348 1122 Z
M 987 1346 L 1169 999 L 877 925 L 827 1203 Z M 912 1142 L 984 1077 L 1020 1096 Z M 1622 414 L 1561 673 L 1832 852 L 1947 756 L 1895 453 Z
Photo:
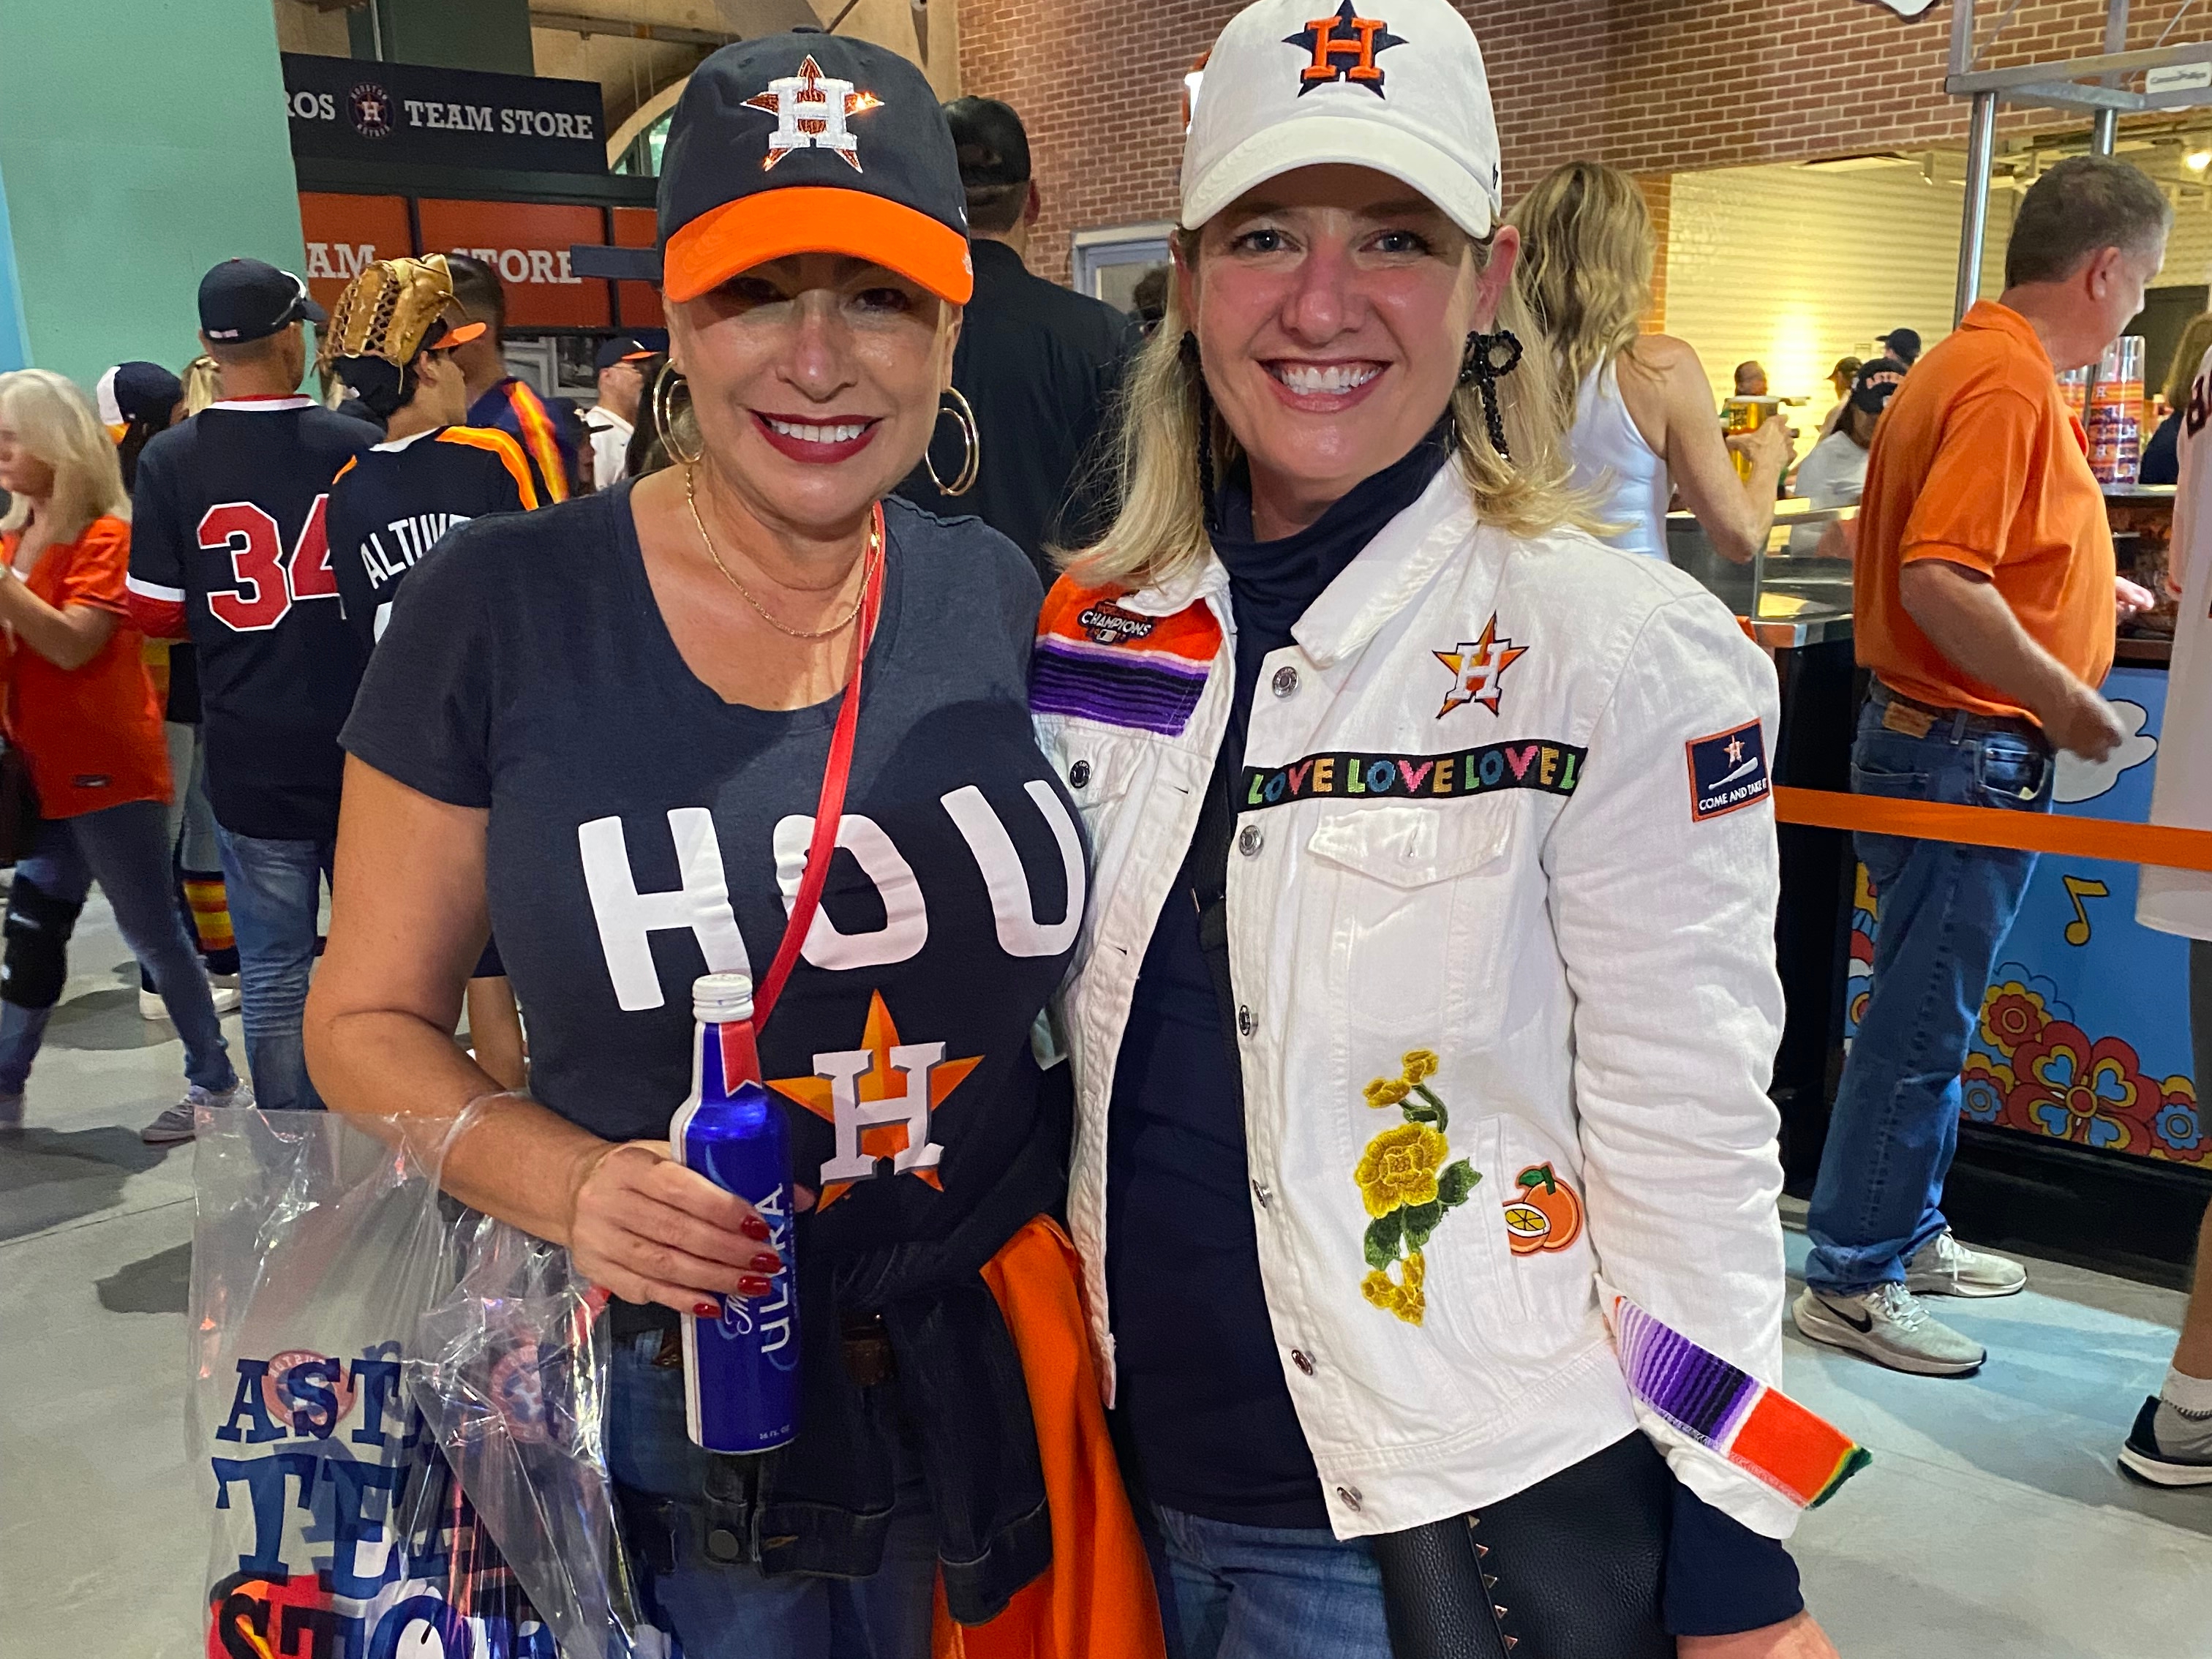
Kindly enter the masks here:
M 701 975 L 692 1015 L 692 1093 L 668 1121 L 668 1146 L 684 1168 L 761 1212 L 783 1272 L 768 1296 L 723 1296 L 721 1318 L 684 1316 L 684 1418 L 708 1451 L 772 1451 L 799 1433 L 792 1137 L 761 1086 L 752 980 Z

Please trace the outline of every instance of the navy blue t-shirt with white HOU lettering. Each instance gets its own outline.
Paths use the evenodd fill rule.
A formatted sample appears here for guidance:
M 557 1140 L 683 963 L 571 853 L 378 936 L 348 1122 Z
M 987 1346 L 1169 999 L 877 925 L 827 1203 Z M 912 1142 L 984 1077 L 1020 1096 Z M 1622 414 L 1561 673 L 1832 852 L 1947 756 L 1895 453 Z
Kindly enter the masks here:
M 1031 1026 L 1088 887 L 1029 723 L 1035 571 L 973 520 L 894 500 L 887 522 L 838 852 L 759 1037 L 823 1194 L 801 1254 L 945 1237 L 1048 1121 Z M 657 1139 L 690 1091 L 692 980 L 761 975 L 783 938 L 836 712 L 726 703 L 692 675 L 624 484 L 456 529 L 400 588 L 343 741 L 489 807 L 531 1093 Z M 823 1170 L 841 1139 L 860 1172 Z

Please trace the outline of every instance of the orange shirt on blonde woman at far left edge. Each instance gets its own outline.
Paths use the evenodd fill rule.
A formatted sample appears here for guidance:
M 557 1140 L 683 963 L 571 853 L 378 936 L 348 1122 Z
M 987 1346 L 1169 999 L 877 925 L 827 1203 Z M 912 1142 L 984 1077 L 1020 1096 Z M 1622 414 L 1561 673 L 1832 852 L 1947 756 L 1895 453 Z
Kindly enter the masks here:
M 0 535 L 0 557 L 9 564 L 20 540 Z M 128 568 L 131 526 L 95 518 L 75 542 L 40 553 L 22 584 L 55 608 L 88 604 L 122 617 Z M 168 801 L 168 743 L 137 628 L 117 622 L 82 668 L 55 668 L 9 633 L 4 661 L 7 739 L 31 761 L 40 816 Z

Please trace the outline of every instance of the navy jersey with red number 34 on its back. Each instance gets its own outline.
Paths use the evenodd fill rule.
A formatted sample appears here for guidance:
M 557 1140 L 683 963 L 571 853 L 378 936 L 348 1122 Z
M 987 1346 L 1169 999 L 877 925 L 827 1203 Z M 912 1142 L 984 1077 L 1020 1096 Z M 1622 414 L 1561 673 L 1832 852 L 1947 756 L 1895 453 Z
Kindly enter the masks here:
M 330 480 L 376 429 L 310 398 L 217 403 L 139 456 L 131 615 L 199 646 L 208 801 L 241 836 L 338 830 L 365 659 L 330 562 Z

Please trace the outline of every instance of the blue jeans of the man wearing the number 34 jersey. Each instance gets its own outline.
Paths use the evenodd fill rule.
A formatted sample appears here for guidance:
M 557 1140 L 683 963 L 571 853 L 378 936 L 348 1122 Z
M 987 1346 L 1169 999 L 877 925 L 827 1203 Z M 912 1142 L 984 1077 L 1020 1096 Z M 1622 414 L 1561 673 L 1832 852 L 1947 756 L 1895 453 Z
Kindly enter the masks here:
M 336 841 L 263 841 L 215 825 L 230 896 L 230 931 L 239 938 L 239 995 L 246 1020 L 246 1064 L 263 1110 L 323 1110 L 307 1082 L 301 1015 L 314 973 L 323 878 Z

